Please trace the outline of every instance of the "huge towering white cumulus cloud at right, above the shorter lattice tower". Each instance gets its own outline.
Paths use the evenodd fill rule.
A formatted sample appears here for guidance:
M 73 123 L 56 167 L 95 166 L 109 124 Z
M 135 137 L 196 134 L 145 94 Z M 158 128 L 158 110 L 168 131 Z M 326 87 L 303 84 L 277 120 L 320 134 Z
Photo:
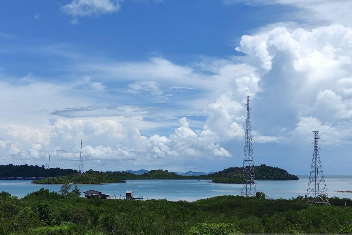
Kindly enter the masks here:
M 246 54 L 246 63 L 262 71 L 261 88 L 266 98 L 272 94 L 276 109 L 296 112 L 296 127 L 287 135 L 310 140 L 317 130 L 323 144 L 350 143 L 351 27 L 274 27 L 243 36 L 236 50 Z M 283 116 L 281 112 L 277 115 Z M 279 141 L 253 137 L 258 142 L 265 139 Z

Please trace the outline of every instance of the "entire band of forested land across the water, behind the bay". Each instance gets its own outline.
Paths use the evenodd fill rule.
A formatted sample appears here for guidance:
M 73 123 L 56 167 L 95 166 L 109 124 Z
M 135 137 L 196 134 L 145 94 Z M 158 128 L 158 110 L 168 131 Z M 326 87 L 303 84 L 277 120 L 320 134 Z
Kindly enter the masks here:
M 298 180 L 298 177 L 289 174 L 284 169 L 278 167 L 254 166 L 256 179 L 258 180 Z M 34 180 L 34 184 L 106 184 L 123 183 L 130 179 L 205 179 L 213 183 L 242 183 L 242 167 L 230 167 L 223 171 L 207 175 L 178 175 L 167 170 L 153 170 L 143 174 L 130 172 L 98 172 L 90 169 L 80 174 L 77 170 L 50 168 L 44 166 L 29 165 L 5 165 L 0 166 L 0 178 L 12 179 L 17 177 L 44 177 L 44 179 Z M 11 177 L 11 178 L 9 178 Z

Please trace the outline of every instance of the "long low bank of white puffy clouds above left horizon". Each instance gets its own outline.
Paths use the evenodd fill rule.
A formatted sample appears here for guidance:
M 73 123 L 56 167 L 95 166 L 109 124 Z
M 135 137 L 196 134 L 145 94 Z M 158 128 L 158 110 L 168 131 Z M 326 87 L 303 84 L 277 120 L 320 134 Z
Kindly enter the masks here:
M 186 118 L 169 136 L 146 137 L 136 128 L 123 126 L 114 120 L 62 120 L 54 123 L 49 146 L 34 144 L 19 150 L 11 141 L 1 141 L 0 149 L 13 161 L 53 159 L 69 165 L 79 158 L 80 138 L 84 141 L 84 159 L 90 162 L 113 160 L 121 167 L 132 165 L 153 166 L 180 164 L 191 159 L 221 159 L 232 155 L 216 142 L 216 138 L 198 136 Z M 4 160 L 4 159 L 3 159 Z M 67 162 L 68 161 L 68 162 Z M 90 163 L 91 164 L 91 163 Z M 111 168 L 111 166 L 109 166 Z

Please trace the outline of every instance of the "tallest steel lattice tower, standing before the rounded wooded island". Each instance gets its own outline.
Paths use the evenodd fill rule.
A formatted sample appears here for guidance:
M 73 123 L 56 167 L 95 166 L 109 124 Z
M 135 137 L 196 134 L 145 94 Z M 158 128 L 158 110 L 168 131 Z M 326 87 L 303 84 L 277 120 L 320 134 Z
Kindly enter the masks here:
M 256 182 L 254 181 L 254 162 L 252 147 L 251 119 L 249 116 L 249 96 L 247 95 L 247 119 L 246 119 L 246 136 L 244 141 L 243 157 L 243 179 L 241 195 L 252 197 L 256 194 Z

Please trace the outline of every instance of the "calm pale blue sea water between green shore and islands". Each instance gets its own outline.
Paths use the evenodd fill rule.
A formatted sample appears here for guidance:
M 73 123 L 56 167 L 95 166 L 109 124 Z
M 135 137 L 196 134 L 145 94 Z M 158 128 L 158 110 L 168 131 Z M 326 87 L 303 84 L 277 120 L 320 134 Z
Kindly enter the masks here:
M 309 176 L 298 175 L 298 177 L 300 180 L 256 180 L 256 189 L 274 199 L 304 196 L 307 193 Z M 352 191 L 352 176 L 326 176 L 325 182 L 329 197 L 352 199 L 352 192 L 334 192 Z M 40 188 L 59 191 L 60 187 L 61 185 L 31 184 L 31 180 L 0 180 L 0 192 L 6 191 L 18 197 L 24 197 Z M 112 196 L 124 196 L 126 191 L 133 191 L 134 197 L 189 202 L 222 195 L 241 195 L 241 184 L 215 184 L 209 183 L 208 180 L 126 180 L 126 183 L 77 187 L 81 192 L 93 189 Z

